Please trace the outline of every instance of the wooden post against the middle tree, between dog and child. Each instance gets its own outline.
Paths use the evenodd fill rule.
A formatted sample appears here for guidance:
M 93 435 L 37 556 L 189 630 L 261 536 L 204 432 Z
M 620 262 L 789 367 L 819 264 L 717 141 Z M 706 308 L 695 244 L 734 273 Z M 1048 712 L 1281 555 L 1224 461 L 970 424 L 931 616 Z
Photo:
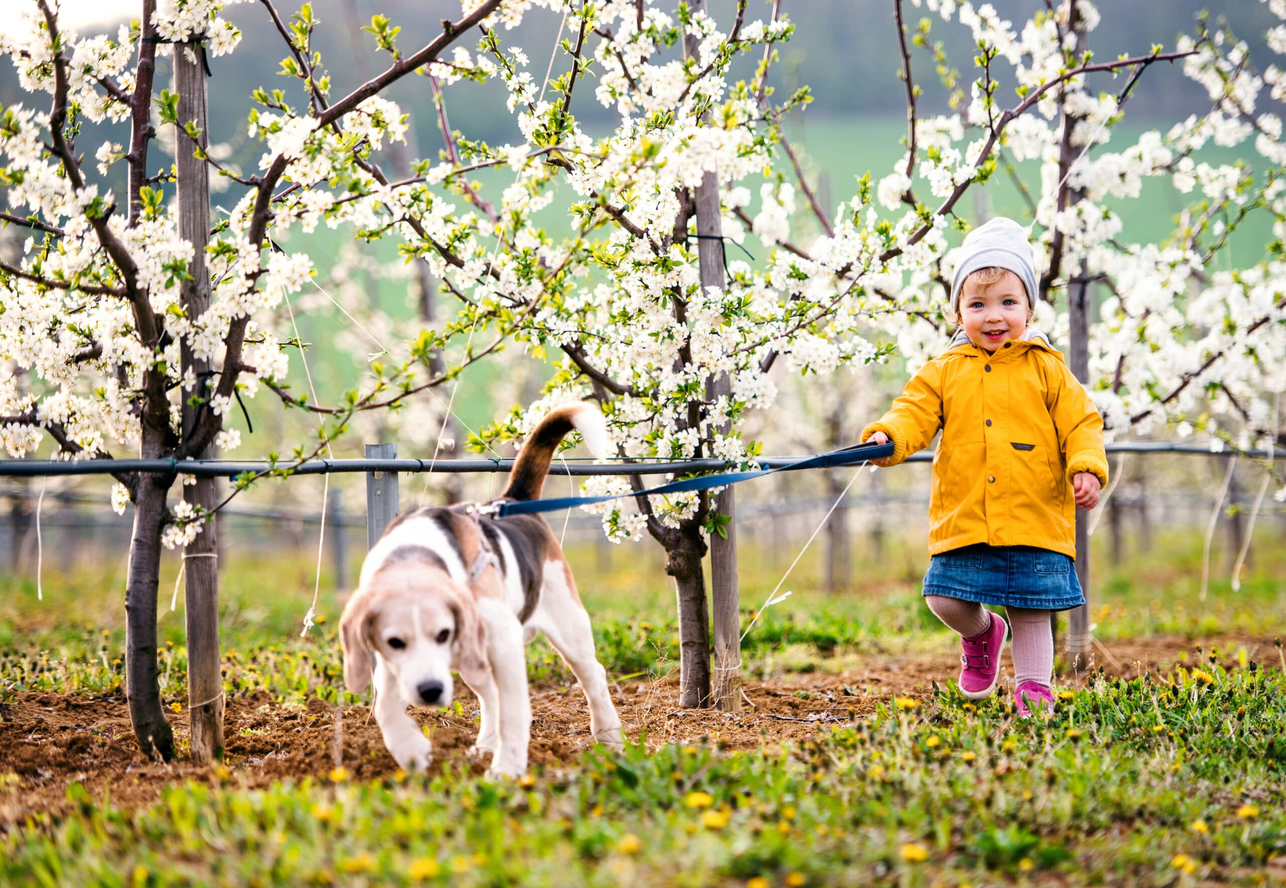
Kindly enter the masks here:
M 689 0 L 693 13 L 705 12 L 705 0 Z M 697 39 L 684 39 L 684 55 L 696 57 Z M 723 222 L 719 208 L 719 176 L 707 170 L 696 189 L 697 203 L 697 256 L 702 289 L 724 288 Z M 727 373 L 706 379 L 706 398 L 712 404 L 720 397 L 730 397 L 732 380 Z M 730 423 L 719 432 L 727 433 Z M 712 497 L 711 508 L 728 520 L 723 535 L 710 536 L 710 587 L 715 643 L 715 680 L 710 689 L 714 704 L 720 709 L 741 709 L 741 608 L 737 590 L 737 504 L 732 487 L 725 487 Z

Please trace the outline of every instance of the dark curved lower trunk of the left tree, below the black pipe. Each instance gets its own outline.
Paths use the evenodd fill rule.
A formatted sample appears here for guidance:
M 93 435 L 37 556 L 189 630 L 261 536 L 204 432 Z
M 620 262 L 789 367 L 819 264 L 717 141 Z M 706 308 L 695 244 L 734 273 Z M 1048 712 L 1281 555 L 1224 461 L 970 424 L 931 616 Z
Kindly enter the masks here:
M 147 438 L 154 432 L 144 432 Z M 144 455 L 159 452 L 144 446 Z M 150 451 L 150 452 L 149 452 Z M 174 730 L 161 707 L 157 670 L 157 583 L 161 571 L 161 528 L 165 496 L 172 475 L 139 475 L 134 504 L 134 538 L 130 544 L 130 574 L 125 586 L 125 695 L 130 722 L 139 747 L 165 761 L 174 758 Z

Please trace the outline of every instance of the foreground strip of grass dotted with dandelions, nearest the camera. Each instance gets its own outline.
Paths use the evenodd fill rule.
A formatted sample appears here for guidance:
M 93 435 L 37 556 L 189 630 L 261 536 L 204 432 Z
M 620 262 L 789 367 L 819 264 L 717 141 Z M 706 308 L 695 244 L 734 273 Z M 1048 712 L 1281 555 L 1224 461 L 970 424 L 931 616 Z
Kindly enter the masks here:
M 5 843 L 27 884 L 1256 884 L 1286 853 L 1286 680 L 1100 680 L 1048 721 L 954 693 L 786 750 L 588 753 L 520 784 L 448 774 L 189 784 Z M 1274 802 L 1273 799 L 1277 799 Z M 217 853 L 211 855 L 212 849 Z M 756 879 L 761 882 L 755 882 Z

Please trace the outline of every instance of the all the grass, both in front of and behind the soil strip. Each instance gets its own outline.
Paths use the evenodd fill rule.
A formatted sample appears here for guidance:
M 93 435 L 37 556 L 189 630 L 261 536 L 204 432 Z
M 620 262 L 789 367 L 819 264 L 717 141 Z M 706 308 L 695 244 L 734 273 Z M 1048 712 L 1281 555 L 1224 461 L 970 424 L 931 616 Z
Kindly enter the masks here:
M 1151 553 L 1118 568 L 1097 553 L 1096 635 L 1263 637 L 1286 625 L 1286 555 L 1276 531 L 1260 533 L 1241 591 L 1217 571 L 1205 604 L 1192 533 L 1157 533 Z M 651 549 L 624 555 L 599 571 L 592 549 L 571 549 L 599 657 L 617 677 L 667 671 L 673 592 Z M 750 608 L 783 565 L 752 546 L 742 558 Z M 228 563 L 229 697 L 347 699 L 328 577 L 319 626 L 297 637 L 311 556 Z M 795 595 L 746 640 L 754 679 L 908 650 L 950 657 L 950 637 L 898 559 L 881 568 L 856 553 L 863 590 L 842 595 L 818 590 L 818 560 L 797 569 Z M 37 603 L 31 578 L 0 581 L 0 703 L 24 690 L 120 694 L 123 613 L 102 583 L 100 573 L 46 573 Z M 172 574 L 163 589 L 170 583 Z M 181 621 L 163 614 L 163 697 L 181 706 Z M 543 643 L 529 663 L 536 681 L 570 680 Z M 0 838 L 0 883 L 1263 884 L 1286 865 L 1283 668 L 1280 648 L 1193 648 L 1164 675 L 1100 675 L 1065 691 L 1048 721 L 1015 718 L 1003 698 L 974 704 L 948 689 L 881 703 L 800 745 L 779 747 L 765 733 L 757 752 L 715 743 L 649 753 L 639 738 L 622 754 L 592 750 L 577 767 L 538 768 L 520 784 L 450 766 L 432 779 L 352 783 L 340 772 L 249 790 L 235 768 L 219 767 L 208 783 L 172 786 L 141 810 L 72 784 L 68 813 L 30 819 Z M 0 802 L 22 792 L 22 780 L 0 762 Z

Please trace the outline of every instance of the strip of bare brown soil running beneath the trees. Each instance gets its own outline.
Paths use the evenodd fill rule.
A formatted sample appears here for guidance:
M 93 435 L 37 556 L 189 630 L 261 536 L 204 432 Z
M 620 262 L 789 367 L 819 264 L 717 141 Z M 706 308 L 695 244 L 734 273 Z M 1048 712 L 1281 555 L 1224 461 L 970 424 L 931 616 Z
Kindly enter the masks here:
M 1205 641 L 1232 654 L 1246 646 L 1251 658 L 1274 661 L 1271 639 L 1220 637 Z M 1093 662 L 1112 675 L 1132 676 L 1174 662 L 1182 652 L 1193 658 L 1197 643 L 1184 639 L 1107 643 Z M 1106 653 L 1105 653 L 1106 650 Z M 790 673 L 766 681 L 747 681 L 741 712 L 679 709 L 678 680 L 633 682 L 613 689 L 626 735 L 647 736 L 649 748 L 665 743 L 718 743 L 725 749 L 755 749 L 811 736 L 819 726 L 850 721 L 890 697 L 927 697 L 932 682 L 955 676 L 952 652 L 869 654 L 863 666 L 840 673 Z M 1064 679 L 1062 684 L 1074 684 Z M 463 716 L 418 709 L 415 717 L 432 730 L 433 767 L 469 762 L 466 750 L 477 735 L 477 702 L 462 684 Z M 575 686 L 538 685 L 531 690 L 532 767 L 554 768 L 575 762 L 589 745 L 589 716 Z M 338 724 L 337 724 L 338 721 Z M 171 715 L 176 739 L 188 736 L 186 712 Z M 225 713 L 226 767 L 237 785 L 264 786 L 287 777 L 325 780 L 342 765 L 355 780 L 373 780 L 397 768 L 365 706 L 342 712 L 311 700 L 289 707 L 266 694 L 231 699 Z M 5 775 L 15 775 L 6 777 Z M 28 815 L 59 812 L 67 806 L 67 786 L 84 784 L 93 798 L 138 807 L 156 802 L 161 790 L 183 780 L 216 783 L 206 766 L 180 756 L 162 765 L 138 750 L 122 698 L 78 694 L 21 694 L 0 707 L 0 833 Z

